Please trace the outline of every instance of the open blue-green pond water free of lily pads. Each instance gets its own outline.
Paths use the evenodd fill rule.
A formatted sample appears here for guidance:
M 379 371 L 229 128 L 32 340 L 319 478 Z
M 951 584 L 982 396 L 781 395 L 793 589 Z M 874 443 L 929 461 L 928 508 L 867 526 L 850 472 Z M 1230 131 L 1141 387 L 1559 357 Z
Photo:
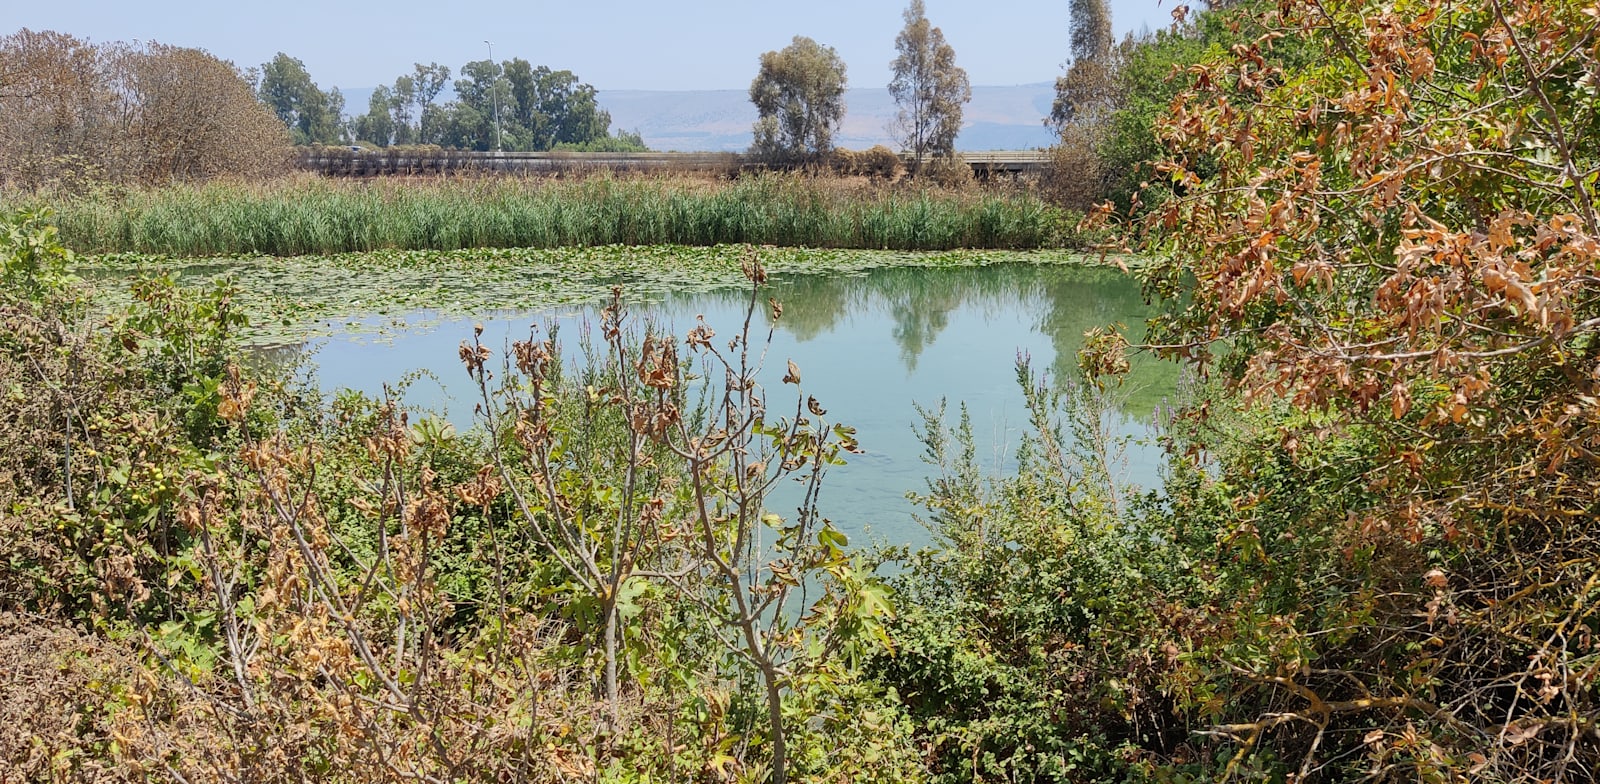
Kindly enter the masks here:
M 683 333 L 704 314 L 720 334 L 738 331 L 747 290 L 632 291 L 650 304 L 635 315 L 672 325 Z M 778 298 L 784 315 L 773 338 L 763 384 L 770 406 L 782 410 L 779 378 L 794 360 L 803 373 L 805 394 L 816 395 L 829 416 L 858 429 L 866 454 L 832 469 L 822 494 L 822 514 L 853 541 L 920 546 L 930 533 L 915 520 L 906 499 L 923 491 L 930 466 L 914 434 L 920 422 L 915 403 L 949 402 L 950 422 L 960 405 L 971 413 L 979 459 L 1002 472 L 1027 427 L 1016 384 L 1016 360 L 1032 358 L 1037 371 L 1054 381 L 1077 376 L 1075 355 L 1093 326 L 1125 323 L 1141 336 L 1147 312 L 1138 286 L 1126 275 L 1101 267 L 1064 264 L 990 264 L 978 267 L 880 267 L 853 275 L 776 275 L 760 293 Z M 765 310 L 765 309 L 763 309 Z M 502 347 L 526 338 L 531 325 L 560 323 L 574 336 L 594 323 L 594 306 L 533 307 L 478 312 L 416 310 L 368 317 L 349 334 L 306 344 L 325 390 L 338 387 L 379 394 L 403 376 L 403 400 L 472 424 L 475 387 L 458 346 L 474 323 L 485 325 L 483 341 Z M 416 325 L 416 326 L 413 326 Z M 381 338 L 374 338 L 381 334 Z M 1178 371 L 1171 365 L 1134 360 L 1118 411 L 1107 426 L 1123 446 L 1118 478 L 1152 486 L 1158 454 L 1149 421 L 1171 395 Z M 789 514 L 782 496 L 774 510 Z

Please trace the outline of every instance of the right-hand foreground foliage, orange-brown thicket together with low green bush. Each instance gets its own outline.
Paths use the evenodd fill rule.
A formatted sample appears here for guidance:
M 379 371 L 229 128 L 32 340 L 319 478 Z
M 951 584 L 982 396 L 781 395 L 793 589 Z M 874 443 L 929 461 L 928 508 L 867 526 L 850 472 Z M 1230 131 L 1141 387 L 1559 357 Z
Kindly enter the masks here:
M 957 459 L 878 677 L 941 781 L 1594 781 L 1600 16 L 1240 11 L 1157 122 L 1163 494 Z

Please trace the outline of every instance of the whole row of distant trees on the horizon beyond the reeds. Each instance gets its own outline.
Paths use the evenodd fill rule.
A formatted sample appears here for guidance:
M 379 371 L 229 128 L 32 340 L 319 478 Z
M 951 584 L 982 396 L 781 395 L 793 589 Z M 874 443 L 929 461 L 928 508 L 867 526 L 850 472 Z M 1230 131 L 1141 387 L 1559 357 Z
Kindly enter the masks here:
M 1179 6 L 1171 30 L 1118 43 L 1106 0 L 1069 5 L 1069 66 L 1056 80 L 1045 120 L 1061 133 L 1056 192 L 1069 206 L 1088 208 L 1106 198 L 1126 205 L 1150 174 L 1146 163 L 1160 154 L 1152 118 L 1179 86 L 1166 72 L 1194 59 L 1195 46 L 1232 43 L 1237 35 L 1190 21 L 1187 6 Z M 954 162 L 971 86 L 942 30 L 928 21 L 925 2 L 910 0 L 902 18 L 888 85 L 898 106 L 890 131 L 910 154 L 910 173 L 920 176 L 930 162 L 950 168 L 946 163 Z M 592 85 L 571 70 L 522 58 L 470 61 L 456 74 L 418 62 L 392 85 L 373 90 L 366 110 L 352 117 L 338 88 L 320 88 L 306 64 L 285 53 L 240 72 L 198 50 L 91 45 L 53 32 L 21 30 L 3 38 L 3 46 L 0 162 L 6 168 L 0 179 L 6 181 L 38 181 L 42 171 L 141 181 L 266 171 L 285 155 L 258 155 L 248 166 L 234 158 L 285 141 L 464 150 L 646 149 L 638 133 L 611 131 L 611 115 Z M 832 46 L 797 35 L 789 46 L 763 53 L 749 90 L 757 109 L 750 152 L 792 165 L 832 160 L 846 86 L 845 62 Z M 251 91 L 256 106 L 250 106 Z M 219 104 L 211 110 L 206 101 Z M 190 125 L 160 125 L 179 115 Z M 274 115 L 285 133 L 262 123 Z

